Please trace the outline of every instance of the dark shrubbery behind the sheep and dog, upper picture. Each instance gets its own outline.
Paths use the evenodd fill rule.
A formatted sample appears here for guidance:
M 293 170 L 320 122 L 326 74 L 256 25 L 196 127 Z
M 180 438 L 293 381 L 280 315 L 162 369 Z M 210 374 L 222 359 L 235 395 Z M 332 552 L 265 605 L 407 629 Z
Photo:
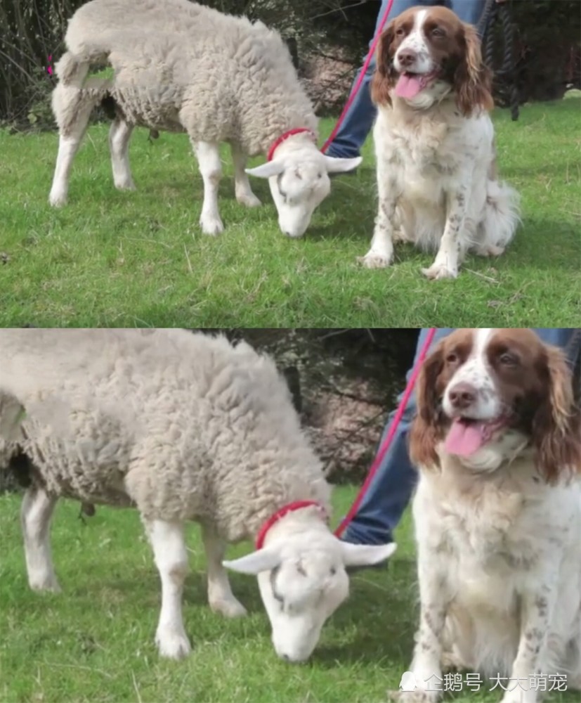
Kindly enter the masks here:
M 53 126 L 46 70 L 63 52 L 67 18 L 82 0 L 0 0 L 0 124 Z M 289 42 L 318 112 L 337 111 L 367 51 L 378 0 L 205 0 L 277 27 Z M 580 86 L 579 0 L 511 0 L 521 102 Z M 321 61 L 318 61 L 321 59 Z M 325 63 L 327 62 L 327 63 Z M 333 70 L 328 77 L 328 63 Z M 504 100 L 502 86 L 497 98 Z

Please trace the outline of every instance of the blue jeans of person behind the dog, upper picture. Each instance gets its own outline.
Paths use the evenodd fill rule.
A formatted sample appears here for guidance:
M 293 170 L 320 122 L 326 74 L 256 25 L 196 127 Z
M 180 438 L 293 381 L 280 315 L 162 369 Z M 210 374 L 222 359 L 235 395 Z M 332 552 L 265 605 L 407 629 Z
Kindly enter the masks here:
M 377 34 L 379 23 L 384 16 L 388 3 L 389 0 L 381 0 L 374 37 L 375 34 Z M 445 5 L 454 11 L 463 22 L 477 25 L 484 10 L 484 4 L 485 0 L 393 0 L 393 6 L 391 7 L 391 12 L 389 13 L 387 21 L 389 22 L 394 17 L 403 13 L 404 10 L 414 5 Z M 384 27 L 386 26 L 387 25 L 384 25 Z M 372 42 L 370 42 L 370 46 L 371 43 Z M 358 81 L 362 68 L 360 68 L 357 75 L 355 75 L 353 86 Z M 339 128 L 337 136 L 335 136 L 334 140 L 327 147 L 326 153 L 329 156 L 351 158 L 360 155 L 361 147 L 367 135 L 370 133 L 377 115 L 377 108 L 375 108 L 375 105 L 371 101 L 370 93 L 370 82 L 374 70 L 375 57 L 372 58 L 369 67 L 367 67 L 365 78 L 360 85 L 360 89 L 353 103 L 351 103 L 351 108 L 349 108 L 345 115 L 344 122 Z M 353 86 L 351 86 L 352 90 Z

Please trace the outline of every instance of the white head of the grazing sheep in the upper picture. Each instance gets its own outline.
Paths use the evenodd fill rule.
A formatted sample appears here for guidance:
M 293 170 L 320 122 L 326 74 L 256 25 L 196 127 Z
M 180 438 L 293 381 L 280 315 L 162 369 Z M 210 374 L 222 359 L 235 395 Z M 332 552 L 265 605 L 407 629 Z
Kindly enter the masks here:
M 251 176 L 268 179 L 280 229 L 293 238 L 303 236 L 315 208 L 331 192 L 329 174 L 351 171 L 361 162 L 361 157 L 326 156 L 310 139 L 299 137 L 283 142 L 272 161 L 246 169 Z

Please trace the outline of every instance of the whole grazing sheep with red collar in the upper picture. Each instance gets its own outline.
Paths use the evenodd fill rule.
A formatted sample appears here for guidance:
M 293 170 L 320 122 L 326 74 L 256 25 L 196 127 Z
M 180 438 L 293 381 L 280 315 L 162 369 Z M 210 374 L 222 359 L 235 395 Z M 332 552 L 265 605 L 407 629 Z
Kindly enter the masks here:
M 329 194 L 328 174 L 361 161 L 320 153 L 318 120 L 289 50 L 262 22 L 188 0 L 92 0 L 70 19 L 65 44 L 52 100 L 60 133 L 52 205 L 66 202 L 72 159 L 91 110 L 103 101 L 115 111 L 109 144 L 117 188 L 135 187 L 128 156 L 134 126 L 188 133 L 204 181 L 200 224 L 207 234 L 223 231 L 223 141 L 230 143 L 238 202 L 260 205 L 247 174 L 268 178 L 280 229 L 290 237 L 303 236 Z M 115 77 L 85 81 L 91 64 L 111 65 Z M 245 169 L 247 157 L 259 154 L 268 162 Z

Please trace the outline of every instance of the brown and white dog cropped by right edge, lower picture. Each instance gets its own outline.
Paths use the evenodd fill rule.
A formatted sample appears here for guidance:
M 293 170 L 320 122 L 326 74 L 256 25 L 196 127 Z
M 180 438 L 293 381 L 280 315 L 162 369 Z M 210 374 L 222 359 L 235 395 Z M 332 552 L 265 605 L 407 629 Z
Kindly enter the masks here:
M 532 330 L 453 332 L 420 373 L 410 456 L 417 688 L 393 697 L 438 700 L 445 668 L 500 678 L 503 703 L 535 703 L 531 677 L 581 688 L 581 425 L 561 351 Z

